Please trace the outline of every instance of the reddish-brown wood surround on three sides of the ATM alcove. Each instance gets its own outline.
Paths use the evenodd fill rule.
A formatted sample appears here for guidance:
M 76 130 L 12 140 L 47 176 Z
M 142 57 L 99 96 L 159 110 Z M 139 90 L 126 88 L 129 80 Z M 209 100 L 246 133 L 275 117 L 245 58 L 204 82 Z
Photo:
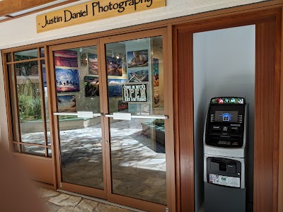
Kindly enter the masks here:
M 238 13 L 175 27 L 174 61 L 178 86 L 176 134 L 180 210 L 195 211 L 193 142 L 193 33 L 255 24 L 254 211 L 277 211 L 282 8 Z M 239 85 L 241 86 L 241 85 Z M 177 166 L 177 167 L 178 167 Z

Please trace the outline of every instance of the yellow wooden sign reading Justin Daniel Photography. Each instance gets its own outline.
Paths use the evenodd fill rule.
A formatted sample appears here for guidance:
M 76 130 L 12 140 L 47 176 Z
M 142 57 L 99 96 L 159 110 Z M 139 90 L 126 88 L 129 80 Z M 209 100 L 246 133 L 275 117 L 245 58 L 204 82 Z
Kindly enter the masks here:
M 36 17 L 37 33 L 166 6 L 166 0 L 100 0 Z M 118 22 L 118 20 L 117 20 Z

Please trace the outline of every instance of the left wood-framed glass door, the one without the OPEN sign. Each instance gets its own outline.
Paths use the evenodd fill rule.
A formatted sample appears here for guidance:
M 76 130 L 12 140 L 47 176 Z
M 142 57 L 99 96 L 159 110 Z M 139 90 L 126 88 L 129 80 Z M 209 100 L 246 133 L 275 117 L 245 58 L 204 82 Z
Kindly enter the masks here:
M 51 54 L 59 188 L 106 198 L 97 40 L 57 45 Z

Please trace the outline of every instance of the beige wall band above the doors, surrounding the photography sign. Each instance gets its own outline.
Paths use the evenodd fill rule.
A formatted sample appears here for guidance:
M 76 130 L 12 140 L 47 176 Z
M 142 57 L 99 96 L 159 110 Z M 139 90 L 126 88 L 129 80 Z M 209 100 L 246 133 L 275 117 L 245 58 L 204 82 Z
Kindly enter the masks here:
M 89 0 L 81 0 L 68 6 L 81 4 Z M 72 37 L 88 33 L 96 33 L 116 28 L 125 28 L 131 25 L 150 23 L 158 20 L 166 20 L 181 16 L 188 16 L 206 11 L 214 11 L 221 8 L 229 8 L 244 4 L 253 4 L 264 0 L 166 0 L 166 7 L 156 8 L 149 11 L 132 13 L 117 18 L 108 18 L 81 25 L 74 25 L 68 28 L 51 30 L 45 33 L 36 33 L 35 17 L 50 11 L 56 11 L 60 6 L 47 11 L 35 13 L 30 16 L 16 18 L 7 22 L 0 23 L 0 49 L 28 45 L 35 42 L 47 40 L 57 40 L 63 37 Z

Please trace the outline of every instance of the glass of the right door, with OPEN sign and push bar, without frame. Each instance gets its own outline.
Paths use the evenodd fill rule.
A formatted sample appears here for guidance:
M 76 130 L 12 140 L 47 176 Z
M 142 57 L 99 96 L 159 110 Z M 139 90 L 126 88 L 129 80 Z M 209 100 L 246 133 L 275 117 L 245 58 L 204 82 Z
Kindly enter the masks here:
M 112 193 L 166 205 L 163 37 L 105 47 Z

